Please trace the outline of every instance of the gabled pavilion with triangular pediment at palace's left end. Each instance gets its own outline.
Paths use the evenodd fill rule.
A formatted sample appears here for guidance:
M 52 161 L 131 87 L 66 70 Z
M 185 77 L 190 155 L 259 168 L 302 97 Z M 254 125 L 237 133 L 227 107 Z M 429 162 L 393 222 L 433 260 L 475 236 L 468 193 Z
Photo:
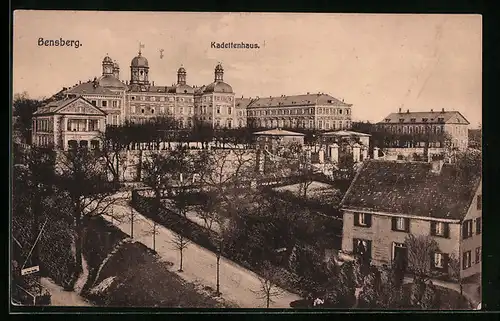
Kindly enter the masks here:
M 32 142 L 58 149 L 100 147 L 106 112 L 78 96 L 53 101 L 33 114 Z

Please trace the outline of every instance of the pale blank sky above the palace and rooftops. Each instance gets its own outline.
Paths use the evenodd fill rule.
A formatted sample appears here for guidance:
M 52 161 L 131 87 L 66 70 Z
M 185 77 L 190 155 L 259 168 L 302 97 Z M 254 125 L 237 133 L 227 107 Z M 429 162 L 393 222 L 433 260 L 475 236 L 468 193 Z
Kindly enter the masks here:
M 40 37 L 82 45 L 43 47 Z M 93 79 L 106 54 L 129 80 L 139 42 L 155 85 L 176 82 L 181 64 L 188 84 L 209 84 L 220 61 L 236 97 L 324 92 L 353 104 L 354 120 L 381 121 L 401 107 L 481 122 L 480 15 L 16 11 L 14 93 L 48 97 Z

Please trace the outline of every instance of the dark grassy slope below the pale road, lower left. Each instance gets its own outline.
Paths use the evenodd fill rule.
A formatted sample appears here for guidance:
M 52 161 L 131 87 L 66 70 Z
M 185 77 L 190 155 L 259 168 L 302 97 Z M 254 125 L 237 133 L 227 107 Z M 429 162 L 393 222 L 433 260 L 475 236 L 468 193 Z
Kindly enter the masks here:
M 100 237 L 97 237 L 100 235 Z M 109 236 L 106 236 L 109 235 Z M 87 222 L 86 257 L 93 284 L 97 269 L 112 248 L 124 237 L 101 218 Z M 100 295 L 86 294 L 97 305 L 129 307 L 224 307 L 208 294 L 169 271 L 150 249 L 140 243 L 125 243 L 103 267 L 99 284 L 108 277 L 114 282 Z

